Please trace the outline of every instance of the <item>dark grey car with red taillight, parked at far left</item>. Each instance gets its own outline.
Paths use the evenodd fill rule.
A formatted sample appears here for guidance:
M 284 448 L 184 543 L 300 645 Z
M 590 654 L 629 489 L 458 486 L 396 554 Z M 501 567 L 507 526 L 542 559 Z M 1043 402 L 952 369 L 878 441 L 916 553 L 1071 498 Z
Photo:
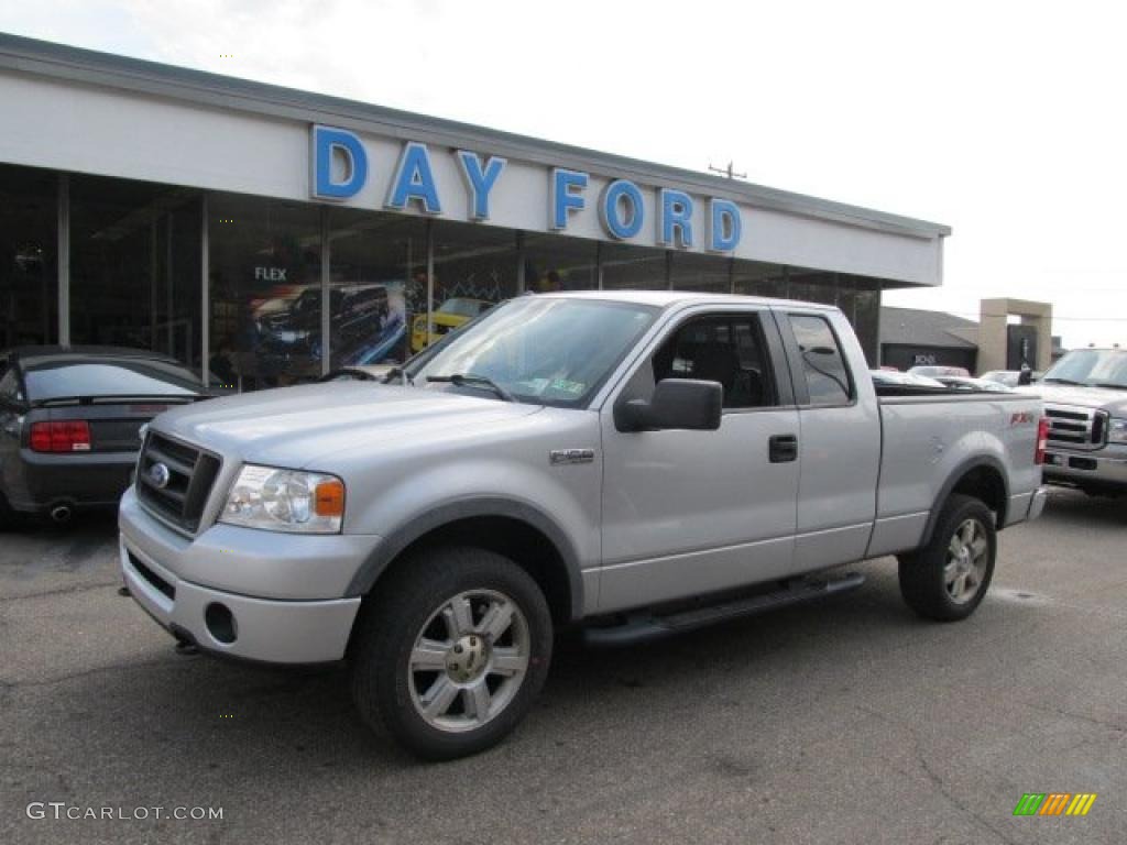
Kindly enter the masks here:
M 204 398 L 194 373 L 143 350 L 0 353 L 0 523 L 18 515 L 63 523 L 79 509 L 116 506 L 137 460 L 141 426 Z

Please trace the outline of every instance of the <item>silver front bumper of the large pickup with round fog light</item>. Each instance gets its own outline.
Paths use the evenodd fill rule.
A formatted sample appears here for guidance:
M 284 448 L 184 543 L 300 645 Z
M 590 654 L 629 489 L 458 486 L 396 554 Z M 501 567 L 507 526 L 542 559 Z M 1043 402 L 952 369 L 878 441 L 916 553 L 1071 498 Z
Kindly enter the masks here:
M 118 525 L 125 584 L 174 635 L 261 662 L 344 658 L 361 599 L 340 585 L 379 537 L 215 525 L 188 540 L 144 512 L 132 488 Z M 251 585 L 258 595 L 248 595 Z

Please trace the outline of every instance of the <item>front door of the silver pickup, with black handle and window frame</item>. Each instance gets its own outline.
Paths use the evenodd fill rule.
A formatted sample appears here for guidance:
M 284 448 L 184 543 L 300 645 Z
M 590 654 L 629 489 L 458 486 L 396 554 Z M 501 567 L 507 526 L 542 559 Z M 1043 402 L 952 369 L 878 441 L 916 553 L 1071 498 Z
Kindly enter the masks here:
M 600 611 L 786 577 L 799 418 L 766 310 L 696 310 L 668 327 L 603 407 Z M 620 432 L 614 407 L 662 379 L 720 382 L 710 430 Z

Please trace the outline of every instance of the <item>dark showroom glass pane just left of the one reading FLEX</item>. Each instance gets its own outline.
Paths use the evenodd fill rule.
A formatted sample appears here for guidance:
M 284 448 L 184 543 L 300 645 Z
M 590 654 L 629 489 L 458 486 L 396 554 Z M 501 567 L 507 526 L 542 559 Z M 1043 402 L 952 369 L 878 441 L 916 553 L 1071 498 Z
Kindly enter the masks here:
M 199 368 L 199 192 L 70 177 L 72 344 L 126 346 Z

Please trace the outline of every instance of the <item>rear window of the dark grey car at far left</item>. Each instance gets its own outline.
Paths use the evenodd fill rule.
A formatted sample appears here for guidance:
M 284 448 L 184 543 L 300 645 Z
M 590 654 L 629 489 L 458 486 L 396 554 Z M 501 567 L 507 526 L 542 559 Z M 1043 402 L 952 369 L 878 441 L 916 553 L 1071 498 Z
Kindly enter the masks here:
M 41 358 L 25 361 L 28 399 L 63 397 L 192 395 L 199 380 L 175 364 L 143 358 Z

